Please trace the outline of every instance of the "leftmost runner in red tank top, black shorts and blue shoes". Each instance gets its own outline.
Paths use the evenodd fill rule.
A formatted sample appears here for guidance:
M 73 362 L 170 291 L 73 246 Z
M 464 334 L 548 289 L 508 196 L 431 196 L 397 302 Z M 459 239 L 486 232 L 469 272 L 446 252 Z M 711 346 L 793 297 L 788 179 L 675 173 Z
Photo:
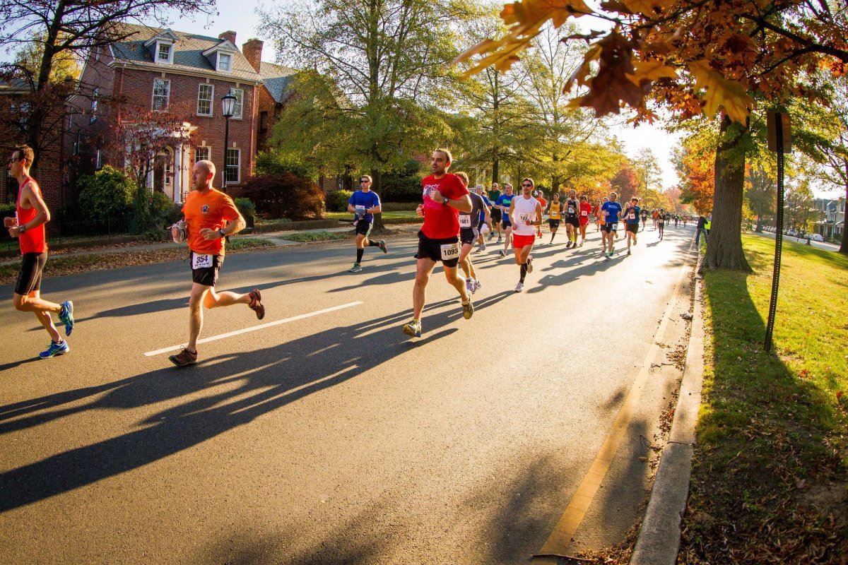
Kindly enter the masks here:
M 74 303 L 70 300 L 56 304 L 42 300 L 42 271 L 47 263 L 47 237 L 44 224 L 50 221 L 50 210 L 42 200 L 42 189 L 35 179 L 30 176 L 30 167 L 36 154 L 32 147 L 23 145 L 15 147 L 12 157 L 8 160 L 8 172 L 18 180 L 18 200 L 14 205 L 14 218 L 4 218 L 3 225 L 8 228 L 8 235 L 18 238 L 20 246 L 20 271 L 18 281 L 14 285 L 12 303 L 19 312 L 31 312 L 36 315 L 50 335 L 50 346 L 38 357 L 47 359 L 56 355 L 70 352 L 68 342 L 62 339 L 56 326 L 53 325 L 53 312 L 59 314 L 59 321 L 64 324 L 64 335 L 70 335 L 74 330 Z

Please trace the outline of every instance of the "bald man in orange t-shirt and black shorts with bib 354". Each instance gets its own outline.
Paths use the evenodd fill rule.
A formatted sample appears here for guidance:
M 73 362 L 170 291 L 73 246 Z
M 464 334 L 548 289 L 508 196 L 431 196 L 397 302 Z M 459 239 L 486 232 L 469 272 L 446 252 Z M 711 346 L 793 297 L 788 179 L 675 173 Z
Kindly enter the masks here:
M 265 318 L 265 307 L 259 290 L 248 294 L 235 292 L 215 292 L 218 272 L 224 264 L 224 238 L 244 229 L 245 221 L 232 198 L 212 188 L 215 178 L 215 164 L 211 161 L 198 161 L 192 169 L 194 190 L 189 192 L 182 207 L 185 216 L 188 248 L 191 249 L 192 294 L 188 299 L 189 323 L 188 343 L 181 352 L 171 355 L 170 361 L 177 367 L 183 367 L 198 361 L 198 337 L 204 326 L 204 312 L 207 308 L 247 304 L 256 313 L 256 318 Z M 171 228 L 175 241 L 180 241 L 181 228 Z

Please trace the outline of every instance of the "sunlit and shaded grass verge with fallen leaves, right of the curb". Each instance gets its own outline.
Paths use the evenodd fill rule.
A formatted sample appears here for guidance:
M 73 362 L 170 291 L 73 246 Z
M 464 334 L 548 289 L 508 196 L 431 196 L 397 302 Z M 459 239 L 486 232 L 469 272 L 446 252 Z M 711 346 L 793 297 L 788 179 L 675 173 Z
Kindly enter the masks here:
M 848 258 L 784 241 L 772 355 L 762 351 L 774 241 L 754 274 L 705 274 L 706 369 L 681 563 L 848 562 Z

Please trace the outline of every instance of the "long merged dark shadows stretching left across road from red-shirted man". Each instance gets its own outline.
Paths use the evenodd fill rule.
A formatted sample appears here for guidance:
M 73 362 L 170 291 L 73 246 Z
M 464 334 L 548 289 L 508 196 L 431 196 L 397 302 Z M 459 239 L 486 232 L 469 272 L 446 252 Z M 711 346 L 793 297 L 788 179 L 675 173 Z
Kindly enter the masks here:
M 475 307 L 492 306 L 506 296 L 510 293 L 488 296 Z M 427 316 L 428 341 L 459 330 L 445 327 L 462 315 L 458 302 L 436 302 L 427 310 L 447 304 L 455 307 Z M 409 316 L 409 310 L 404 309 L 378 320 L 324 330 L 278 346 L 213 357 L 190 368 L 159 368 L 115 383 L 0 407 L 0 413 L 8 418 L 8 414 L 40 411 L 109 391 L 82 407 L 7 422 L 0 430 L 8 433 L 85 410 L 142 407 L 231 381 L 241 383 L 232 390 L 192 399 L 153 414 L 142 422 L 148 424 L 146 428 L 0 474 L 0 512 L 153 463 L 375 368 L 407 350 L 408 338 L 400 332 L 399 325 Z M 367 330 L 375 328 L 376 332 L 365 335 Z M 304 363 L 304 357 L 310 357 L 308 363 Z

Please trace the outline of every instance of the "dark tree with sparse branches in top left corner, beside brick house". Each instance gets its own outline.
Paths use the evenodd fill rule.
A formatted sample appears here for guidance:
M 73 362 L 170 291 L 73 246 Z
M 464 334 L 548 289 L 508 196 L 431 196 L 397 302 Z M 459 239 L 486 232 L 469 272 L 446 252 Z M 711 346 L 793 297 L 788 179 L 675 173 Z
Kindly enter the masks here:
M 165 25 L 169 9 L 183 15 L 213 14 L 215 0 L 0 0 L 0 45 L 38 53 L 36 58 L 26 58 L 26 64 L 0 65 L 0 80 L 25 85 L 28 90 L 23 121 L 31 147 L 37 150 L 50 142 L 46 139 L 54 135 L 54 117 L 64 111 L 64 100 L 71 91 L 66 81 L 51 80 L 57 67 L 70 59 L 84 60 L 93 48 L 126 39 L 126 31 L 113 24 L 143 19 Z M 77 94 L 91 95 L 85 91 Z M 37 158 L 36 153 L 36 163 Z

